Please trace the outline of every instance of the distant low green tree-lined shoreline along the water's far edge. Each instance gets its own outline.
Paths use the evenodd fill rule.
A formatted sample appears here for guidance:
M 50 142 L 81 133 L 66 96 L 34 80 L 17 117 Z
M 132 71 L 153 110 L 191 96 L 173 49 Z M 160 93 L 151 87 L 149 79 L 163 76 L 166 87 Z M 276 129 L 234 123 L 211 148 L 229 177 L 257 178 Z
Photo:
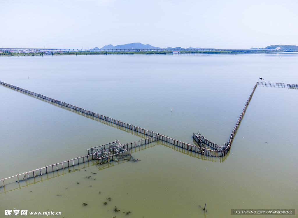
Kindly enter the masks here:
M 249 51 L 249 50 L 240 50 L 240 51 L 180 51 L 180 54 L 263 54 L 263 53 L 285 53 L 285 52 L 298 52 L 293 50 L 285 51 Z M 164 54 L 170 55 L 172 51 L 139 51 L 139 52 L 93 52 L 93 51 L 78 51 L 78 52 L 10 52 L 4 53 L 1 52 L 0 56 L 43 56 L 43 55 L 153 55 L 153 54 Z

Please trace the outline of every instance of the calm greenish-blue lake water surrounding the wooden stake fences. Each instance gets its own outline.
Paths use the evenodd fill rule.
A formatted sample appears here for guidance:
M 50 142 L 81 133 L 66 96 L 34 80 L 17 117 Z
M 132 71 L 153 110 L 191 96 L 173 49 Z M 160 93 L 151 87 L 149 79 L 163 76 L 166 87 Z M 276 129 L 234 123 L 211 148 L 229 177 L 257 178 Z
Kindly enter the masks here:
M 257 79 L 297 84 L 297 68 L 297 54 L 1 57 L 0 79 L 184 142 L 193 144 L 199 131 L 222 145 Z M 224 161 L 152 144 L 133 150 L 140 162 L 89 162 L 21 189 L 0 188 L 0 217 L 14 208 L 65 218 L 297 211 L 297 99 L 298 90 L 257 87 Z M 0 102 L 1 178 L 141 139 L 3 86 Z

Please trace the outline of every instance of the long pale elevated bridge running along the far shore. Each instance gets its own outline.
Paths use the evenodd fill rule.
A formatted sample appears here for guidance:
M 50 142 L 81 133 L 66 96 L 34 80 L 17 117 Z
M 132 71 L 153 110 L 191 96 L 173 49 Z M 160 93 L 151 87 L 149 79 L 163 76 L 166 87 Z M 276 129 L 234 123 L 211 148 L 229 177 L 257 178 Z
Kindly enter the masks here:
M 35 49 L 35 48 L 0 48 L 0 52 L 147 52 L 147 51 L 274 51 L 275 49 Z

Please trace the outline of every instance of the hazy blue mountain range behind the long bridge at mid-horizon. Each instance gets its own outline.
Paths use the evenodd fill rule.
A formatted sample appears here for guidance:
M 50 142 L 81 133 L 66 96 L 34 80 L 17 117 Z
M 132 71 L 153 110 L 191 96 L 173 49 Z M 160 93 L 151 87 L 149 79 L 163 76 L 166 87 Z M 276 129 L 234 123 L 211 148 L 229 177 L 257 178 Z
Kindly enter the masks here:
M 98 48 L 98 47 L 95 47 L 94 49 L 161 49 L 160 47 L 154 47 L 154 46 L 151 46 L 149 44 L 147 45 L 144 45 L 142 43 L 139 43 L 139 42 L 135 42 L 135 43 L 129 43 L 129 44 L 125 44 L 125 45 L 117 45 L 117 46 L 113 46 L 113 45 L 106 45 L 106 46 L 103 46 L 102 48 Z M 172 48 L 172 47 L 167 47 L 166 49 L 184 49 L 184 48 L 181 48 L 181 47 L 175 47 L 175 48 Z M 204 49 L 204 48 L 187 48 L 187 49 Z M 211 49 L 211 48 L 207 48 L 207 49 Z M 93 49 L 90 49 L 91 51 Z

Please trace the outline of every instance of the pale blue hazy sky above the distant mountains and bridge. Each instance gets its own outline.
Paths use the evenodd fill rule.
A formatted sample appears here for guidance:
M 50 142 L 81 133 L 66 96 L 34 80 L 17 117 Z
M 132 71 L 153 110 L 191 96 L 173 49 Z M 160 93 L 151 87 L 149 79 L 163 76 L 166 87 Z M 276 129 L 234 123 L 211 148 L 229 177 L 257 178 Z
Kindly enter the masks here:
M 298 45 L 297 0 L 0 0 L 0 48 Z

